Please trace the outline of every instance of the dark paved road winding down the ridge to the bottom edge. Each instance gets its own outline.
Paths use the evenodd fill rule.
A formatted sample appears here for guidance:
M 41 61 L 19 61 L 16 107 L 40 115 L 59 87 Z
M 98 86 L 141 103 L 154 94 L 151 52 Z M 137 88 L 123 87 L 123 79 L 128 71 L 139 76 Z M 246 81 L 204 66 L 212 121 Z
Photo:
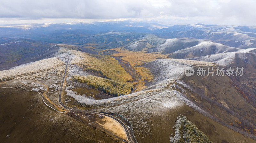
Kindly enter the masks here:
M 69 59 L 68 59 L 68 61 L 69 61 Z M 79 110 L 79 109 L 73 109 L 73 108 L 70 108 L 70 107 L 68 107 L 68 106 L 66 106 L 66 105 L 64 105 L 62 103 L 62 101 L 61 101 L 61 91 L 62 91 L 62 87 L 63 87 L 63 84 L 64 84 L 64 79 L 65 79 L 65 76 L 66 76 L 66 71 L 67 71 L 67 67 L 68 67 L 68 61 L 67 61 L 67 65 L 66 65 L 66 68 L 65 68 L 63 79 L 62 79 L 62 82 L 61 82 L 61 85 L 60 85 L 60 93 L 59 93 L 59 103 L 60 103 L 60 105 L 63 106 L 64 108 L 68 109 L 68 110 L 79 111 L 79 112 L 84 112 L 84 113 L 91 113 L 91 114 L 97 114 L 97 115 L 104 115 L 104 116 L 107 116 L 107 117 L 110 117 L 110 118 L 116 120 L 118 123 L 120 123 L 124 127 L 124 130 L 126 132 L 126 136 L 127 136 L 128 141 L 130 143 L 134 143 L 132 141 L 131 134 L 130 134 L 130 132 L 128 130 L 128 127 L 121 120 L 119 120 L 118 118 L 113 117 L 113 116 L 108 115 L 108 114 L 104 114 L 104 113 L 85 111 L 85 110 Z

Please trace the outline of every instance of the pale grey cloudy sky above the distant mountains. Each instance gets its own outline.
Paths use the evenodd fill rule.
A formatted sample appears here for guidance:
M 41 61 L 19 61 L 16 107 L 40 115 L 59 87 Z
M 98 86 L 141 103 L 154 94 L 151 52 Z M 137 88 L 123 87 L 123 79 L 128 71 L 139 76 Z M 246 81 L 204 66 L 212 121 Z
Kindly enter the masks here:
M 0 0 L 0 25 L 113 20 L 256 25 L 256 0 Z

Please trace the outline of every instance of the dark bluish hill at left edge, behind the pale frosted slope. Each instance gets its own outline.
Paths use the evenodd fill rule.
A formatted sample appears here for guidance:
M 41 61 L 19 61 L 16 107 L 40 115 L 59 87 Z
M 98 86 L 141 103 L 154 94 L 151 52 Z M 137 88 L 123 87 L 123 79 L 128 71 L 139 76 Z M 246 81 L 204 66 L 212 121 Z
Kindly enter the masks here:
M 0 70 L 40 60 L 38 57 L 52 46 L 33 39 L 9 39 L 0 44 Z

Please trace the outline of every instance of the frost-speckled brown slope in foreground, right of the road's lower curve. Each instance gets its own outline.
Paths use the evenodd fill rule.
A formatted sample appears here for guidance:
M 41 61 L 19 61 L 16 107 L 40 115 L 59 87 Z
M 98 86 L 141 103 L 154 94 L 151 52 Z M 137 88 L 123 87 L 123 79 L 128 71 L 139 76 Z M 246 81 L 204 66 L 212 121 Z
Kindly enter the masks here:
M 152 135 L 154 126 L 157 126 L 156 121 L 152 120 L 153 116 L 163 116 L 166 110 L 174 110 L 183 105 L 184 103 L 176 97 L 176 94 L 172 90 L 165 90 L 164 92 L 142 98 L 138 101 L 95 111 L 116 113 L 123 116 L 132 125 L 132 127 L 128 126 L 128 128 L 132 128 L 137 136 L 144 138 Z

